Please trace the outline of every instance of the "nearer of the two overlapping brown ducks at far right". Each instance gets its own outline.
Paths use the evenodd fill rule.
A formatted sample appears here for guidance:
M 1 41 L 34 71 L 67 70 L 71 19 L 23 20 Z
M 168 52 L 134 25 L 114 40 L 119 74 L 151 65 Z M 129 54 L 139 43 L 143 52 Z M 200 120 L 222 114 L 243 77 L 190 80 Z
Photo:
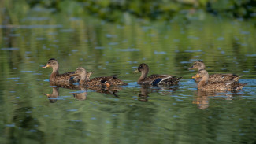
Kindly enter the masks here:
M 209 74 L 205 69 L 198 71 L 198 73 L 192 77 L 201 78 L 202 80 L 198 83 L 198 90 L 242 90 L 247 83 L 238 83 L 234 80 L 210 82 Z

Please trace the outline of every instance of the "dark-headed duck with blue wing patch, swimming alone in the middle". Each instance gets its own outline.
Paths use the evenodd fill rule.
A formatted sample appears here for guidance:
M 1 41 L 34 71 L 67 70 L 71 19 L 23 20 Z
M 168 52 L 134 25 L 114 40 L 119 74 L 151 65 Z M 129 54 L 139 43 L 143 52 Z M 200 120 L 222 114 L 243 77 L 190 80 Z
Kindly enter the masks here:
M 173 85 L 179 83 L 179 80 L 182 77 L 172 76 L 172 75 L 151 75 L 147 77 L 147 73 L 149 72 L 149 67 L 147 64 L 139 64 L 139 67 L 134 72 L 141 72 L 141 76 L 138 79 L 138 84 L 144 85 Z

